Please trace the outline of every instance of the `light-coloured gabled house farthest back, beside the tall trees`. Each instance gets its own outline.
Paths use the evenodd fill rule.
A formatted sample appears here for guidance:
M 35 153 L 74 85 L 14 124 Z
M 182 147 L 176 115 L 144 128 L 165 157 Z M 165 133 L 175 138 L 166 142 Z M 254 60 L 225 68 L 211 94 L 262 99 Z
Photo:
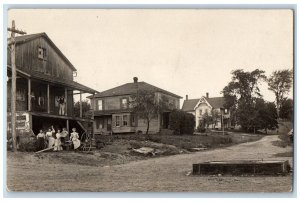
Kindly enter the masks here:
M 228 128 L 231 127 L 231 123 L 229 121 L 230 110 L 226 109 L 224 104 L 224 97 L 209 97 L 208 93 L 206 93 L 206 96 L 202 96 L 197 99 L 188 99 L 188 95 L 186 95 L 186 99 L 182 105 L 182 110 L 195 116 L 195 128 L 200 125 L 204 116 L 212 116 L 212 113 L 214 113 L 216 120 L 210 127 L 221 129 L 224 123 L 224 128 Z

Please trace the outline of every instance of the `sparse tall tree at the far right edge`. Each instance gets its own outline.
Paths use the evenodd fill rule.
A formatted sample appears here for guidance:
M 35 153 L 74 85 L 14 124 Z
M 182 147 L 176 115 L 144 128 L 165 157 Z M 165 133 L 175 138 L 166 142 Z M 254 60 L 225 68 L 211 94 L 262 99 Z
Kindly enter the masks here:
M 275 104 L 277 109 L 277 116 L 280 117 L 280 108 L 289 93 L 293 84 L 293 71 L 289 69 L 274 71 L 268 78 L 269 90 L 275 94 Z

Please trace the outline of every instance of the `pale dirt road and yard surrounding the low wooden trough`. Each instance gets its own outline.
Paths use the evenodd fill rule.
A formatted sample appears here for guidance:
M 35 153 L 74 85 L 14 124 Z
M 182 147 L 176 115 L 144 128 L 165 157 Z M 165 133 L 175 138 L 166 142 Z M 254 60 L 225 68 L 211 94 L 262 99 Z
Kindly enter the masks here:
M 7 185 L 11 191 L 96 192 L 289 192 L 292 176 L 187 176 L 193 163 L 210 160 L 287 159 L 276 153 L 291 147 L 273 146 L 278 136 L 227 148 L 140 160 L 114 166 L 84 166 L 36 161 L 32 154 L 8 157 Z M 55 161 L 55 159 L 53 159 Z

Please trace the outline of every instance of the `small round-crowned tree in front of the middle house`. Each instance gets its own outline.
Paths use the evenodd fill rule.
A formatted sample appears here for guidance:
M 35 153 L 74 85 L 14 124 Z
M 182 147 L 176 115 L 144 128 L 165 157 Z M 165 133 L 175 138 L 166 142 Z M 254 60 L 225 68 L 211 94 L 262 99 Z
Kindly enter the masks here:
M 155 92 L 149 90 L 138 90 L 131 98 L 130 104 L 133 112 L 147 122 L 146 135 L 148 135 L 151 120 L 157 118 L 164 110 L 169 109 L 169 103 L 164 97 L 158 99 Z

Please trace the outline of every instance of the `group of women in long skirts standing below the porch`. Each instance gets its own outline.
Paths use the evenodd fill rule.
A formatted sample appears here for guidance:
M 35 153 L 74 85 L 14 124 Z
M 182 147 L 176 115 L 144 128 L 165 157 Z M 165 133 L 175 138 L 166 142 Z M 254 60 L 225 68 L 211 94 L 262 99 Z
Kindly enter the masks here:
M 38 151 L 45 148 L 53 148 L 54 151 L 62 151 L 63 147 L 66 145 L 66 141 L 69 139 L 69 132 L 66 128 L 63 128 L 62 131 L 57 129 L 55 134 L 54 127 L 51 126 L 46 133 L 44 133 L 43 130 L 40 130 L 40 133 L 36 136 L 36 138 Z M 70 140 L 74 150 L 80 147 L 79 134 L 76 132 L 76 128 L 72 129 Z

